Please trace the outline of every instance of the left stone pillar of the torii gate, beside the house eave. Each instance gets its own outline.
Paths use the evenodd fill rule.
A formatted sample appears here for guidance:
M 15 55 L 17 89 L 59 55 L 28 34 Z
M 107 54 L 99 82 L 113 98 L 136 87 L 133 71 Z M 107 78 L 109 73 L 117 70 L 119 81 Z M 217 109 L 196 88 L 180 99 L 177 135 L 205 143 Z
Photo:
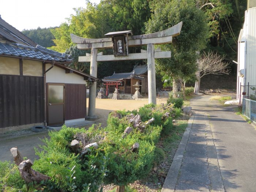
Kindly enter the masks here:
M 90 64 L 90 75 L 97 78 L 97 48 L 91 48 L 91 64 Z M 90 86 L 89 92 L 89 106 L 88 106 L 88 116 L 95 117 L 95 102 L 96 102 L 96 86 L 97 82 L 93 82 Z

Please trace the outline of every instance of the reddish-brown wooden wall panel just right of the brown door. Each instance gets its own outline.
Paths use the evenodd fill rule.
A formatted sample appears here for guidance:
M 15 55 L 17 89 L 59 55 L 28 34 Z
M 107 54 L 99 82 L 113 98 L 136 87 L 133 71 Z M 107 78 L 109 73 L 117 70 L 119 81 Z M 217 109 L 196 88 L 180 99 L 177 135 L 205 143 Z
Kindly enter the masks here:
M 65 120 L 86 117 L 85 84 L 65 84 Z

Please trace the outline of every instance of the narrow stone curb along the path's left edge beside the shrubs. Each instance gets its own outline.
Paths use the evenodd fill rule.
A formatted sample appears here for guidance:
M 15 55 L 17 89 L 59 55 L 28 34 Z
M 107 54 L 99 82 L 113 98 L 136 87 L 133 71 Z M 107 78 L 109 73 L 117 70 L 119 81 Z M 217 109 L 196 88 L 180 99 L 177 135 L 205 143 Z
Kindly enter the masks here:
M 186 128 L 186 130 L 182 136 L 180 145 L 175 153 L 172 165 L 171 165 L 171 167 L 168 171 L 168 174 L 165 178 L 165 182 L 163 184 L 163 188 L 162 188 L 161 192 L 175 191 L 178 174 L 180 171 L 183 155 L 184 155 L 187 143 L 188 143 L 189 133 L 190 133 L 194 118 L 195 118 L 195 116 L 193 115 L 188 120 L 188 127 Z

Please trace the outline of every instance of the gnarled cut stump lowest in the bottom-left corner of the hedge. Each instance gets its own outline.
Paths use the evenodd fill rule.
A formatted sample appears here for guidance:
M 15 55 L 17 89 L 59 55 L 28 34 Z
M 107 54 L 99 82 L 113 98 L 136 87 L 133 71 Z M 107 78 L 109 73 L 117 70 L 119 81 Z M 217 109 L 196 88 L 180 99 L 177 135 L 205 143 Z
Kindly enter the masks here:
M 45 180 L 50 180 L 51 178 L 47 175 L 44 175 L 42 173 L 36 172 L 35 170 L 31 169 L 31 166 L 33 165 L 33 162 L 28 159 L 26 161 L 22 161 L 19 164 L 19 171 L 20 176 L 23 178 L 25 182 L 41 182 Z

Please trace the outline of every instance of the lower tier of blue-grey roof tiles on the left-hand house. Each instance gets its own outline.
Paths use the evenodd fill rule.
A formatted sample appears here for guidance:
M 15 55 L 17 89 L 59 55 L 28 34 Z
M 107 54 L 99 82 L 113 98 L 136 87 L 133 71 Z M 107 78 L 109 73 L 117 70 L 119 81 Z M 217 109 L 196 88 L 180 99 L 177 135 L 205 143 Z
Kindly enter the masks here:
M 61 54 L 59 52 L 46 49 L 40 45 L 31 47 L 16 43 L 0 43 L 0 54 L 44 61 L 72 61 L 64 53 Z

